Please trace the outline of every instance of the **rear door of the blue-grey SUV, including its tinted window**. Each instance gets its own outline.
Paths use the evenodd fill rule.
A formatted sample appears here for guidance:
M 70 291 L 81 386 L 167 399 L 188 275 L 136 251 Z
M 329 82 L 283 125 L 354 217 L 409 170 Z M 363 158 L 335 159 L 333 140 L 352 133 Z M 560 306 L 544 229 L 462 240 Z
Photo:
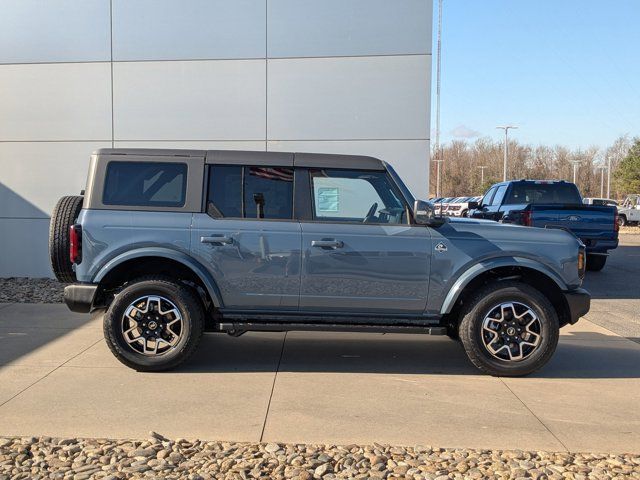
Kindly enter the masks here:
M 287 163 L 208 166 L 191 251 L 227 309 L 298 308 L 301 229 L 293 220 L 292 158 Z

